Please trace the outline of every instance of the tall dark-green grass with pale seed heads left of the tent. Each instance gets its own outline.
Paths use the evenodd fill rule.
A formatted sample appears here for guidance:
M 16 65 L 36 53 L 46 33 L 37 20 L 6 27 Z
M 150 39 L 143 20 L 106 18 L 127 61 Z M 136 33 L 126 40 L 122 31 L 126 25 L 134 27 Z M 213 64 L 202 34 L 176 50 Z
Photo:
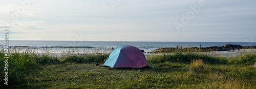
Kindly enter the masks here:
M 0 69 L 4 69 L 4 49 L 2 48 L 0 52 Z M 38 53 L 41 52 L 41 53 Z M 99 52 L 102 49 L 94 50 Z M 40 65 L 53 65 L 61 64 L 65 62 L 76 62 L 76 63 L 92 63 L 92 62 L 103 62 L 108 58 L 109 54 L 88 54 L 83 51 L 84 54 L 80 56 L 81 52 L 73 50 L 71 52 L 64 52 L 67 55 L 63 56 L 62 60 L 59 60 L 57 57 L 53 56 L 53 53 L 57 52 L 56 49 L 51 48 L 42 48 L 42 49 L 22 49 L 22 48 L 13 48 L 8 52 L 8 81 L 10 85 L 15 85 L 18 83 L 26 83 L 24 78 L 31 73 L 31 69 L 36 69 Z M 0 71 L 0 76 L 4 76 L 4 71 Z M 4 77 L 0 77 L 0 80 L 3 80 Z M 0 81 L 1 84 L 4 81 Z

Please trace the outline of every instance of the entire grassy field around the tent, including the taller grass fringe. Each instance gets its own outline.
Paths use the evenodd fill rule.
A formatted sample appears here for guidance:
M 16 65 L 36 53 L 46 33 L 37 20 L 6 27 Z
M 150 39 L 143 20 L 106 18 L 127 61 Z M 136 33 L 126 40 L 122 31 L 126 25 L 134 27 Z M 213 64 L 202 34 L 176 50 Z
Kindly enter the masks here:
M 143 72 L 101 66 L 109 54 L 61 59 L 50 54 L 47 49 L 41 55 L 32 49 L 9 52 L 8 86 L 0 81 L 0 88 L 256 88 L 255 54 L 231 58 L 190 52 L 151 54 L 146 56 L 150 66 Z M 4 76 L 3 50 L 0 56 Z

